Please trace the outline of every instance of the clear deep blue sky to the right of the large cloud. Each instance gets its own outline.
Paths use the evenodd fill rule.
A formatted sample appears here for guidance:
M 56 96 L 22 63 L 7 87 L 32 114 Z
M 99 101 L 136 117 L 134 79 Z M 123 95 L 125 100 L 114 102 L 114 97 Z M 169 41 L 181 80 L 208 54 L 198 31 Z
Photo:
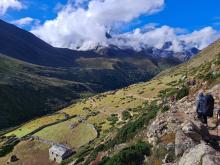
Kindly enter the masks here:
M 149 22 L 185 28 L 189 31 L 206 26 L 220 29 L 219 7 L 219 0 L 167 0 L 164 10 L 138 18 L 136 22 L 140 23 L 131 24 L 126 30 L 143 26 Z

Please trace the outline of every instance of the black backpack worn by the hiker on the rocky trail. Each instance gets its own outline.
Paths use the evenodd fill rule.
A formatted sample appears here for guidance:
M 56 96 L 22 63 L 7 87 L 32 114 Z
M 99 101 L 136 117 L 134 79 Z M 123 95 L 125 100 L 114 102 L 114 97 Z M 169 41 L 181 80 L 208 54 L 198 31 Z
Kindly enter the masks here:
M 205 96 L 205 111 L 206 116 L 213 117 L 213 111 L 214 111 L 214 98 L 212 95 L 206 95 Z

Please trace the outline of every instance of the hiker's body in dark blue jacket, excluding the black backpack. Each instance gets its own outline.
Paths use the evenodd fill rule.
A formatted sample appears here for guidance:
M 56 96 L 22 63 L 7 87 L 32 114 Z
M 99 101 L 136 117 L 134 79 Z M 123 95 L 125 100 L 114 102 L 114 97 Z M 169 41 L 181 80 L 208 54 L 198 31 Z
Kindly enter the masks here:
M 207 124 L 207 115 L 206 115 L 206 104 L 205 104 L 205 95 L 201 92 L 197 99 L 196 112 L 198 115 L 198 119 L 201 120 L 202 123 Z

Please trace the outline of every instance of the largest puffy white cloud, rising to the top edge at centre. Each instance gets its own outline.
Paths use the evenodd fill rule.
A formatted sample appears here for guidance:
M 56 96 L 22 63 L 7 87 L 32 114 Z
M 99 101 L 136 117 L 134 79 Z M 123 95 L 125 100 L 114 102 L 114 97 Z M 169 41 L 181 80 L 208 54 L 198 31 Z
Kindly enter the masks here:
M 118 23 L 129 23 L 141 14 L 163 8 L 164 0 L 92 0 L 87 8 L 69 3 L 54 20 L 32 30 L 53 46 L 77 48 L 85 43 L 103 43 L 105 33 Z

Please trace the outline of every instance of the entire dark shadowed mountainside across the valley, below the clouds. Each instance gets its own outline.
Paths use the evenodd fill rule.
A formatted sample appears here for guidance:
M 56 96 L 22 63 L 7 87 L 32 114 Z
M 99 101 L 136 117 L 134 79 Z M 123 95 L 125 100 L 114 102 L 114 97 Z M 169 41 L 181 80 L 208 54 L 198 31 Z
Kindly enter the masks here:
M 0 20 L 0 129 L 88 95 L 147 81 L 182 62 L 155 52 L 113 45 L 90 51 L 55 48 Z

